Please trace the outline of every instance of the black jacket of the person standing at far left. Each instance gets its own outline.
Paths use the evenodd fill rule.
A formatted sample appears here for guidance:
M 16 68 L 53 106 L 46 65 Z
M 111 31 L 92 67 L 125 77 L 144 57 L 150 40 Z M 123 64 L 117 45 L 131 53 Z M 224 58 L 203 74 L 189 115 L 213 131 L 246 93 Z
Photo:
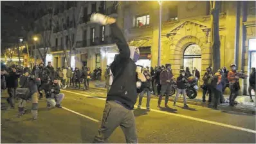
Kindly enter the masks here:
M 12 87 L 18 87 L 18 78 L 19 78 L 19 73 L 14 73 L 13 71 L 10 71 L 6 77 L 6 87 L 12 88 Z

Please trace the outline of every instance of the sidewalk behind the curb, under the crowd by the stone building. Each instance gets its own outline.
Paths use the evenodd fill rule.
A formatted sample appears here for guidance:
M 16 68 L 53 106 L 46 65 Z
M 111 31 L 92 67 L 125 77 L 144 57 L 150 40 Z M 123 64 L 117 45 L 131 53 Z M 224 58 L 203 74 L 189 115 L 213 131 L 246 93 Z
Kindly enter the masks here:
M 101 91 L 106 91 L 105 89 L 105 82 L 100 81 L 91 81 L 90 82 L 91 89 L 97 89 Z M 202 91 L 198 91 L 197 97 L 194 99 L 187 98 L 187 104 L 190 105 L 200 105 L 202 107 L 212 107 L 212 104 L 208 105 L 207 102 L 202 102 Z M 175 95 L 169 97 L 169 101 L 174 101 Z M 158 99 L 158 96 L 152 95 L 151 98 Z M 224 95 L 225 100 L 229 98 L 228 95 Z M 237 96 L 236 101 L 238 104 L 235 107 L 230 107 L 228 103 L 218 105 L 218 108 L 222 111 L 235 111 L 240 113 L 248 113 L 248 114 L 255 114 L 256 107 L 255 107 L 255 96 L 252 97 L 254 102 L 250 102 L 250 96 Z M 165 97 L 163 97 L 163 100 Z M 208 96 L 206 96 L 206 100 L 208 100 Z M 178 101 L 179 103 L 183 103 L 183 96 L 179 96 Z

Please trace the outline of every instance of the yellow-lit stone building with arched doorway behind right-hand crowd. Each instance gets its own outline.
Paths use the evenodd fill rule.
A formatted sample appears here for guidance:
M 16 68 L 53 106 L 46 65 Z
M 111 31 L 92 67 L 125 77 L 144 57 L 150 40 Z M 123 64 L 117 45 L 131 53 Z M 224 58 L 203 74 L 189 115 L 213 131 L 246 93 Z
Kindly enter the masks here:
M 219 35 L 221 66 L 230 64 L 249 74 L 256 67 L 254 1 L 220 1 Z M 212 65 L 209 1 L 163 1 L 161 21 L 161 65 L 179 69 L 193 67 L 201 72 Z M 158 64 L 159 4 L 157 1 L 131 1 L 123 6 L 123 30 L 130 46 L 143 51 L 143 64 Z M 246 93 L 248 79 L 241 80 Z

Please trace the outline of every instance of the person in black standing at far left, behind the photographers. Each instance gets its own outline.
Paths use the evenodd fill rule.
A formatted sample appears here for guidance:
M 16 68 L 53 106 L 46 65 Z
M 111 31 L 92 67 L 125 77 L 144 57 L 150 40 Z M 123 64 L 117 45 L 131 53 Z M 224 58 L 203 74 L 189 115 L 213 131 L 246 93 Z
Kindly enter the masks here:
M 12 66 L 8 69 L 6 73 L 6 87 L 8 91 L 9 98 L 7 98 L 8 104 L 10 104 L 11 109 L 14 109 L 14 98 L 16 96 L 16 89 L 18 87 L 18 78 L 20 73 L 17 73 L 16 67 Z

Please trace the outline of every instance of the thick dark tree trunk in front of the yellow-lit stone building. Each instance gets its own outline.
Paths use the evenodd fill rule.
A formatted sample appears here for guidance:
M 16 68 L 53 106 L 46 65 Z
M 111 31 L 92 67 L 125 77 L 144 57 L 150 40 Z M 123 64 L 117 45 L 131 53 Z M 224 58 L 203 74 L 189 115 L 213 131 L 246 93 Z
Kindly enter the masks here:
M 211 6 L 211 38 L 212 38 L 212 67 L 216 72 L 221 67 L 221 42 L 219 40 L 219 3 L 220 1 L 210 1 Z

